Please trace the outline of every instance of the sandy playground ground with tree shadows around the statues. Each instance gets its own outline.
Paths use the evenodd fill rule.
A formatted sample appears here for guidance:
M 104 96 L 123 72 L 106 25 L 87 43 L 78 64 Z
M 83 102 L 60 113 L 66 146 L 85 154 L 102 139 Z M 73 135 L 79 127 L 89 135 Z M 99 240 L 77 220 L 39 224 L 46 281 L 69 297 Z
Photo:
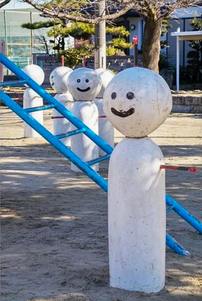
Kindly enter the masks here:
M 173 211 L 167 231 L 191 252 L 166 250 L 159 293 L 109 287 L 107 194 L 42 138 L 23 138 L 23 122 L 1 108 L 2 301 L 198 301 L 201 235 Z M 51 110 L 44 122 L 52 131 Z M 167 164 L 167 193 L 201 220 L 201 116 L 172 114 L 152 135 Z M 115 141 L 122 135 L 116 132 Z M 100 164 L 107 178 L 108 162 Z

